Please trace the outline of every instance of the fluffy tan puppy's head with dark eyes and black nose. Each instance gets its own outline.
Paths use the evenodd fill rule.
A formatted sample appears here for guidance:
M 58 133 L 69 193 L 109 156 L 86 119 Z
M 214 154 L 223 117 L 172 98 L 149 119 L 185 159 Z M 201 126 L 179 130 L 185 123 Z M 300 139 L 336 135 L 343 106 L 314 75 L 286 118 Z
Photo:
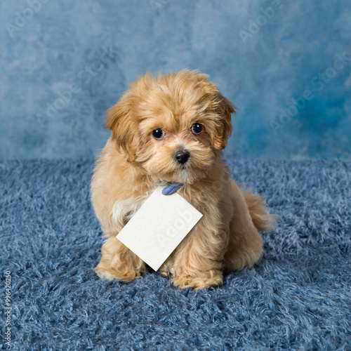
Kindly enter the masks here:
M 227 145 L 234 105 L 206 74 L 139 77 L 112 107 L 105 126 L 128 161 L 150 176 L 192 183 Z

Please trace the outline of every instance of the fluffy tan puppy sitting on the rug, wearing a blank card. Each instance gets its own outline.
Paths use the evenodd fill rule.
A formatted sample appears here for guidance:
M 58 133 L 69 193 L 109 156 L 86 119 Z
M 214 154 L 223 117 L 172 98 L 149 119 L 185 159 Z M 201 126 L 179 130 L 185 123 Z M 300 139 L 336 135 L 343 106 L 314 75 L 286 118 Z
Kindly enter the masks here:
M 130 282 L 145 263 L 116 239 L 159 184 L 183 183 L 178 194 L 204 216 L 161 266 L 174 286 L 204 289 L 223 271 L 251 267 L 263 252 L 258 230 L 275 218 L 258 195 L 241 192 L 223 161 L 235 107 L 206 74 L 146 74 L 107 115 L 112 137 L 95 166 L 91 194 L 107 240 L 95 268 Z M 140 230 L 143 230 L 140 227 Z

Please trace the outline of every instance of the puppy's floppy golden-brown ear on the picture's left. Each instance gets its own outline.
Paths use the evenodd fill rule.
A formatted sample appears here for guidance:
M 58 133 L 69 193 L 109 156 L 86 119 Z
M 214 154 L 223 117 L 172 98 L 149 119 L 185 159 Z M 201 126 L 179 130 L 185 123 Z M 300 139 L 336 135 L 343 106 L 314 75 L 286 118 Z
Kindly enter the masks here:
M 128 93 L 108 110 L 103 125 L 112 131 L 112 140 L 119 151 L 126 153 L 128 161 L 133 161 L 139 145 L 139 133 L 131 114 Z

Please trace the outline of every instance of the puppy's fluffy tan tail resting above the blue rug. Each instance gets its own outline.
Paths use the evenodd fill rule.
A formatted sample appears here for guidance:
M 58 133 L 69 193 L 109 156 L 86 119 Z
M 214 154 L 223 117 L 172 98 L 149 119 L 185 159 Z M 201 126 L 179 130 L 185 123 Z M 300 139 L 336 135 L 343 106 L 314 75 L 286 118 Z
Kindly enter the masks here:
M 258 230 L 265 232 L 277 227 L 279 216 L 271 215 L 268 212 L 265 207 L 265 200 L 263 200 L 260 195 L 252 194 L 249 190 L 246 190 L 244 192 L 244 199 L 249 207 L 253 225 L 255 225 Z

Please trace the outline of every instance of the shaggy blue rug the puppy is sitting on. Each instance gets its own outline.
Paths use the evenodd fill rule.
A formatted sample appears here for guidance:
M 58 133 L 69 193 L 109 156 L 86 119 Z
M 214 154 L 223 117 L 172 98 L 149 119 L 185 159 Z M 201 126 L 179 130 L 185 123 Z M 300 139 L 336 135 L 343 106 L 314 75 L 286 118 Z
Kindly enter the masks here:
M 351 162 L 229 165 L 281 223 L 263 233 L 253 269 L 183 291 L 158 272 L 128 284 L 95 275 L 91 159 L 0 164 L 1 305 L 12 308 L 1 312 L 0 348 L 351 350 Z

